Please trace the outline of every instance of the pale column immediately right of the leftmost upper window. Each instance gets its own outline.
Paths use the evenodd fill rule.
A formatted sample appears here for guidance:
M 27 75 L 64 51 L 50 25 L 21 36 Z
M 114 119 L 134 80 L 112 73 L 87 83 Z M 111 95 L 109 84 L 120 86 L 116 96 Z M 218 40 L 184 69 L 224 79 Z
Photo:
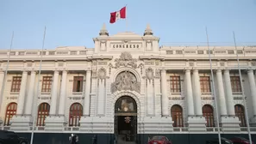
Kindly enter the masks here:
M 22 84 L 20 88 L 20 94 L 19 94 L 18 105 L 17 105 L 17 112 L 16 112 L 17 115 L 23 114 L 27 78 L 28 78 L 28 71 L 24 70 L 22 72 Z

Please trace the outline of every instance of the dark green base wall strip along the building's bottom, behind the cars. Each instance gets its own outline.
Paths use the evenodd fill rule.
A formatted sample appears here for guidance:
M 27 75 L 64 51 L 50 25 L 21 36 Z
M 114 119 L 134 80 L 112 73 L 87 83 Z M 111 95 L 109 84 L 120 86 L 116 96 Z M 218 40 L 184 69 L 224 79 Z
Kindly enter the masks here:
M 29 133 L 19 133 L 18 135 L 22 137 L 28 138 L 28 142 L 30 142 Z M 34 144 L 70 144 L 68 138 L 71 134 L 63 134 L 63 133 L 34 133 Z M 114 143 L 114 135 L 112 134 L 77 134 L 79 136 L 80 144 L 91 144 L 92 138 L 94 135 L 97 135 L 97 144 L 113 144 Z M 137 137 L 137 144 L 147 144 L 148 137 L 154 135 L 162 135 L 162 134 L 139 134 Z M 204 144 L 205 141 L 211 140 L 213 138 L 217 138 L 217 134 L 163 134 L 172 143 L 183 143 L 183 144 Z M 232 138 L 234 136 L 242 136 L 248 139 L 248 135 L 235 135 L 235 134 L 222 134 L 222 137 Z M 252 135 L 252 139 L 256 141 L 256 135 Z

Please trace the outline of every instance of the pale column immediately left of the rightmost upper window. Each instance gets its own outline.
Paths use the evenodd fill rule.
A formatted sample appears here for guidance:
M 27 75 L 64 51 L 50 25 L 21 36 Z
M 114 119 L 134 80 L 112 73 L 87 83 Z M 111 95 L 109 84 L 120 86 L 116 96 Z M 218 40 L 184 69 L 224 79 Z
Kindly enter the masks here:
M 224 79 L 225 79 L 225 89 L 226 89 L 226 96 L 227 96 L 226 99 L 227 99 L 228 115 L 234 116 L 235 114 L 234 114 L 233 93 L 232 93 L 231 81 L 230 81 L 230 75 L 229 75 L 228 69 L 224 70 Z

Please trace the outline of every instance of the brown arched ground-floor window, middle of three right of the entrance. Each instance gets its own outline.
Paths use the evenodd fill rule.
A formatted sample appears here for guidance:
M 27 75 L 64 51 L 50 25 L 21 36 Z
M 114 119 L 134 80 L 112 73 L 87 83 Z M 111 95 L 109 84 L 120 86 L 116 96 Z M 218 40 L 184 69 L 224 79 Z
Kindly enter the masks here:
M 213 112 L 214 111 L 211 105 L 203 105 L 203 117 L 205 117 L 207 127 L 215 127 Z

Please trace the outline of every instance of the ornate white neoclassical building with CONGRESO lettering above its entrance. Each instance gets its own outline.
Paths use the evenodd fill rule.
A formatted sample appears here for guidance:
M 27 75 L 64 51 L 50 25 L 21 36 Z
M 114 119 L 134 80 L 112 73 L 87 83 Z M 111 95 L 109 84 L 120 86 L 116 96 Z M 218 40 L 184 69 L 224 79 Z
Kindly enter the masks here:
M 111 36 L 103 26 L 93 41 L 94 48 L 1 50 L 1 128 L 29 133 L 34 121 L 35 133 L 136 141 L 145 134 L 216 134 L 218 117 L 222 133 L 243 134 L 246 104 L 256 124 L 256 46 L 159 46 L 149 26 L 143 35 Z

